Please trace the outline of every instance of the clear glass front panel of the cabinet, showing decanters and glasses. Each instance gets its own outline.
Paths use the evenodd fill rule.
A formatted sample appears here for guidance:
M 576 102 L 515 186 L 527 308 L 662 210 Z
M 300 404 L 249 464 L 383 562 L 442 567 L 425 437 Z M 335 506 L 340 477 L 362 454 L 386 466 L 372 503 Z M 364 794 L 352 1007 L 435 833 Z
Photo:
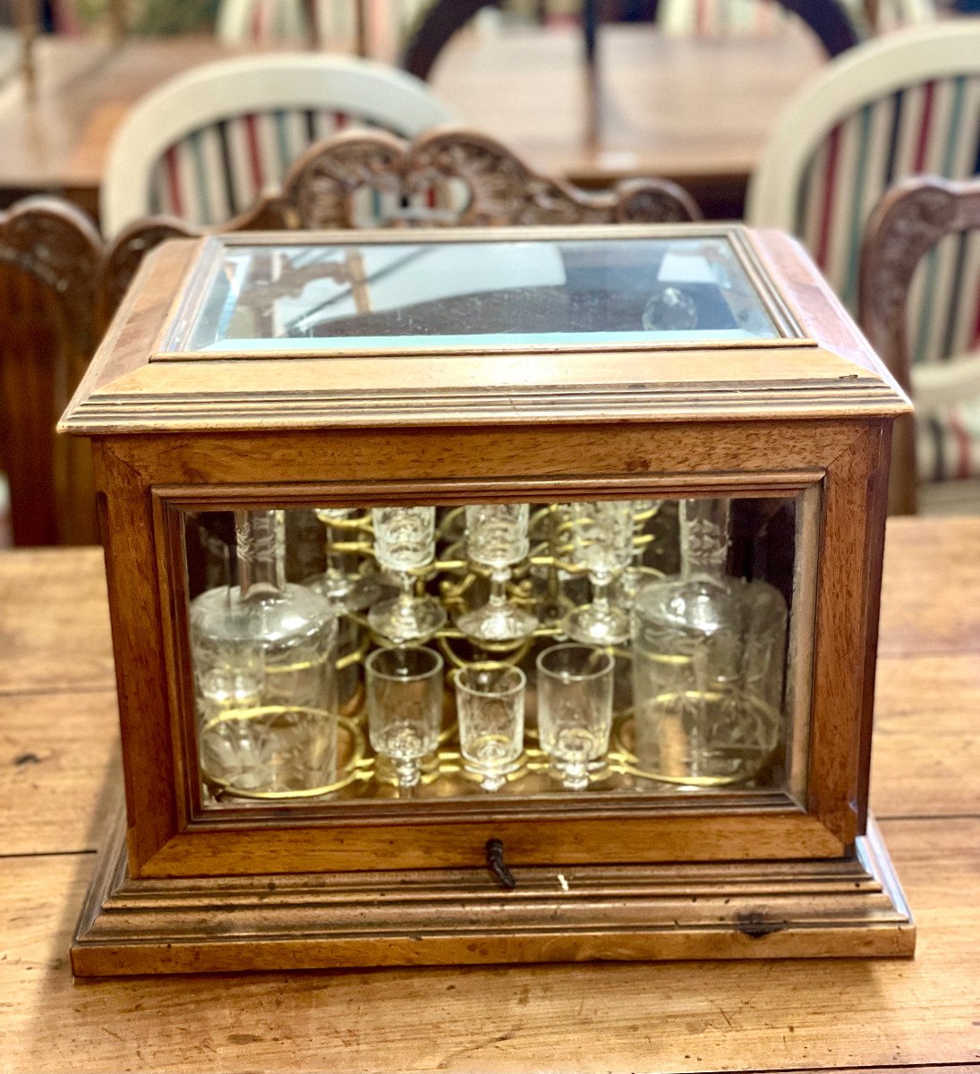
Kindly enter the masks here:
M 204 803 L 798 794 L 809 514 L 186 511 Z

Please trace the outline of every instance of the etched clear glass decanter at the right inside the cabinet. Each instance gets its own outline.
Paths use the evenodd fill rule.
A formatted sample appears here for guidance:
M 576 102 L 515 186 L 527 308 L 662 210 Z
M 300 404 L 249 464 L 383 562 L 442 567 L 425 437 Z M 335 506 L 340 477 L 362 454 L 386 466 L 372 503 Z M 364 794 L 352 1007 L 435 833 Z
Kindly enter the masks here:
M 730 505 L 681 500 L 680 575 L 645 584 L 634 604 L 634 750 L 652 779 L 745 782 L 779 741 L 786 600 L 726 576 Z

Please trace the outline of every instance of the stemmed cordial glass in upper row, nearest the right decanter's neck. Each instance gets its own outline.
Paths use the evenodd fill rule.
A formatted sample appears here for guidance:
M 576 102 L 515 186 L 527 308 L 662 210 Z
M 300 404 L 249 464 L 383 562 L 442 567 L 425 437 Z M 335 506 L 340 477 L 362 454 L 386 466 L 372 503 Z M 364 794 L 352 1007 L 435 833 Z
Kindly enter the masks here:
M 572 505 L 575 563 L 589 571 L 592 603 L 571 611 L 565 633 L 589 645 L 614 645 L 630 637 L 630 616 L 609 601 L 609 585 L 633 557 L 633 502 L 605 499 Z

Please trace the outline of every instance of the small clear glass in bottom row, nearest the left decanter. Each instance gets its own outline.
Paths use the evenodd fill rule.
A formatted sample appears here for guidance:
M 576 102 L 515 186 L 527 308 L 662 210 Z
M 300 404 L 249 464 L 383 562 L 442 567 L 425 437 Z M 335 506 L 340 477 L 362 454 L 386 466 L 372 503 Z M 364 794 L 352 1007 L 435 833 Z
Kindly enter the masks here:
M 376 649 L 364 662 L 367 737 L 390 757 L 400 788 L 418 784 L 421 759 L 438 746 L 443 658 L 431 649 Z

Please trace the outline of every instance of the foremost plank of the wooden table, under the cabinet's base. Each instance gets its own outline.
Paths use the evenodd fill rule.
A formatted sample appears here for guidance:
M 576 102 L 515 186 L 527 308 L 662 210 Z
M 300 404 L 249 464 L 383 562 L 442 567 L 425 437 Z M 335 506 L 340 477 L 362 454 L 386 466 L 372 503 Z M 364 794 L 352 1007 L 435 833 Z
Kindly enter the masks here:
M 716 1071 L 980 1060 L 980 821 L 883 826 L 913 961 L 589 963 L 72 984 L 91 856 L 8 862 L 12 1071 Z M 57 1027 L 57 1032 L 54 1031 Z

